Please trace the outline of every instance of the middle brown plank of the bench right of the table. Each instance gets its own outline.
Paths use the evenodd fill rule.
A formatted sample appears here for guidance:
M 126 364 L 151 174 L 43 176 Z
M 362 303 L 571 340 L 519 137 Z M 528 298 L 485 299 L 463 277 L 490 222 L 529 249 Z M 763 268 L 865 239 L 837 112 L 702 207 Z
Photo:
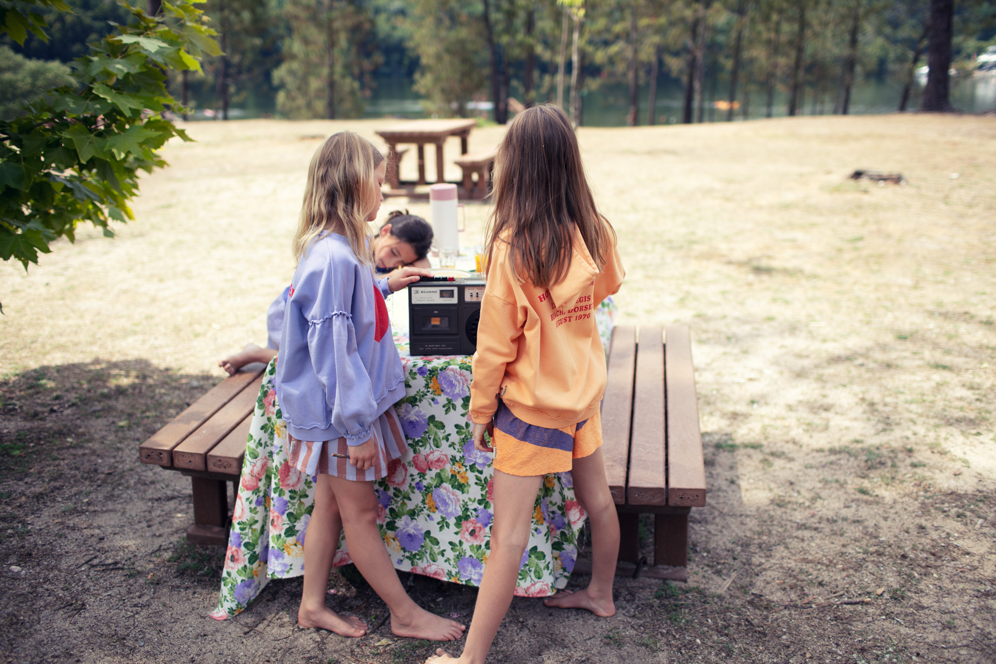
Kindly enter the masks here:
M 664 445 L 663 331 L 656 326 L 640 326 L 626 503 L 667 504 Z

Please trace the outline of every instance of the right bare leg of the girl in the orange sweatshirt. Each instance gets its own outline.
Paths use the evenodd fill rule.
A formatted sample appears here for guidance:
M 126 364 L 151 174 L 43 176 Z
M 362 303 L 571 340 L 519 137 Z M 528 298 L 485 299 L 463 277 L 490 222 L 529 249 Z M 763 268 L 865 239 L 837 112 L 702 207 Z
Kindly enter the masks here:
M 573 465 L 574 491 L 588 512 L 592 528 L 592 581 L 584 590 L 558 592 L 543 603 L 559 608 L 587 608 L 596 615 L 609 617 L 616 614 L 613 582 L 620 551 L 620 521 L 606 480 L 602 448 L 591 456 L 575 459 Z

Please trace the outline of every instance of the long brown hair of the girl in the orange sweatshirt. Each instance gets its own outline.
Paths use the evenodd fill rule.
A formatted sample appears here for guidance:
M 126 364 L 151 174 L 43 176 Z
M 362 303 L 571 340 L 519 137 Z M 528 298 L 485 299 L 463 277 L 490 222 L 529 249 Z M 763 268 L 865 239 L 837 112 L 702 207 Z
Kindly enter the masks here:
M 615 231 L 595 207 L 578 137 L 559 107 L 535 106 L 511 121 L 495 156 L 492 196 L 488 265 L 496 245 L 507 242 L 517 278 L 541 288 L 558 284 L 570 268 L 577 228 L 605 266 Z

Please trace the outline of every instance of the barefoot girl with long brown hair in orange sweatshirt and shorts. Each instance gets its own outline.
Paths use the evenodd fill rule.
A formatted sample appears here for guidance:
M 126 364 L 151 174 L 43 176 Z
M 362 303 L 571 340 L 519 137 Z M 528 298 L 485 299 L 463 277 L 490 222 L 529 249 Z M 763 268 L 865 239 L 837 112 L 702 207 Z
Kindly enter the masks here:
M 515 591 L 536 495 L 547 473 L 571 471 L 592 529 L 592 580 L 547 606 L 616 613 L 620 530 L 602 461 L 599 405 L 606 353 L 592 314 L 622 285 L 616 233 L 595 207 L 567 115 L 544 105 L 516 115 L 495 158 L 487 287 L 474 353 L 474 446 L 494 445 L 494 522 L 474 618 L 459 659 L 484 662 Z

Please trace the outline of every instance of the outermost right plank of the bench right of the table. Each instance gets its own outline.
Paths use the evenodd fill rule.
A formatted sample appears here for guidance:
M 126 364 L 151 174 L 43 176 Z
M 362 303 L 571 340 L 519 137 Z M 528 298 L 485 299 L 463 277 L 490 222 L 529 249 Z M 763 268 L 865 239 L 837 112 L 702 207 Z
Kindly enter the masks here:
M 705 505 L 705 464 L 698 429 L 695 370 L 688 328 L 667 328 L 667 504 Z

